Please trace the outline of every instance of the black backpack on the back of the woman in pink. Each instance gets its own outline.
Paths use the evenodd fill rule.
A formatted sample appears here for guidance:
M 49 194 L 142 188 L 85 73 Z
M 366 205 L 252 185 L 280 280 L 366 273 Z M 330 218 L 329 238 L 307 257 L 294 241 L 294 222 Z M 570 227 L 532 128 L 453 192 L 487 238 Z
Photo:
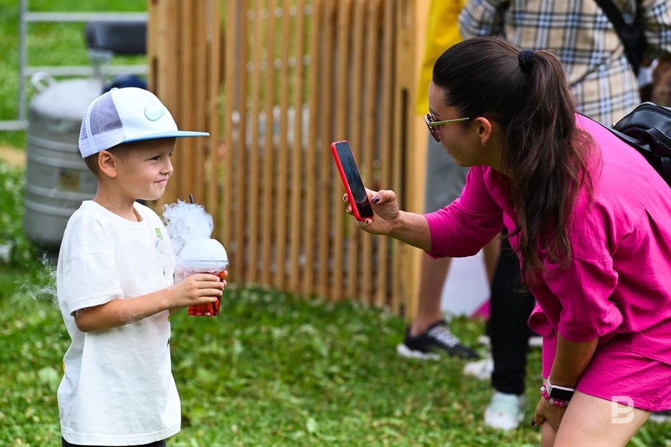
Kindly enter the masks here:
M 608 129 L 641 153 L 671 187 L 671 108 L 645 102 Z

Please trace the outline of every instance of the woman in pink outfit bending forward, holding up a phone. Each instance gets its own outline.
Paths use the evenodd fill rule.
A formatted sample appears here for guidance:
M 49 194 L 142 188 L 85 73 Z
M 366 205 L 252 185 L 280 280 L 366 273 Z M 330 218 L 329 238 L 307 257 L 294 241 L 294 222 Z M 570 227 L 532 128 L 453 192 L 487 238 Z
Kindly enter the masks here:
M 472 167 L 461 197 L 419 215 L 369 191 L 375 215 L 358 225 L 436 257 L 475 255 L 507 228 L 544 337 L 543 445 L 625 445 L 651 411 L 671 409 L 669 187 L 575 113 L 547 51 L 458 43 L 435 63 L 429 108 L 431 133 Z

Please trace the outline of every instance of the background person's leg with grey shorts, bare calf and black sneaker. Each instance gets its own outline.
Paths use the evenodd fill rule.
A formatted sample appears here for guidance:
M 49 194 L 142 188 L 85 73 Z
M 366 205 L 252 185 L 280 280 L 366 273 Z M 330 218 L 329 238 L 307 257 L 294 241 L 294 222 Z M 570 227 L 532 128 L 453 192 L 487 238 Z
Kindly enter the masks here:
M 456 165 L 445 148 L 430 136 L 426 159 L 425 210 L 432 212 L 459 197 L 468 168 Z M 438 359 L 437 352 L 443 351 L 464 359 L 478 358 L 473 349 L 464 346 L 450 332 L 448 322 L 443 319 L 440 304 L 451 261 L 450 258 L 422 258 L 417 316 L 406 330 L 403 343 L 397 346 L 398 354 L 419 359 Z

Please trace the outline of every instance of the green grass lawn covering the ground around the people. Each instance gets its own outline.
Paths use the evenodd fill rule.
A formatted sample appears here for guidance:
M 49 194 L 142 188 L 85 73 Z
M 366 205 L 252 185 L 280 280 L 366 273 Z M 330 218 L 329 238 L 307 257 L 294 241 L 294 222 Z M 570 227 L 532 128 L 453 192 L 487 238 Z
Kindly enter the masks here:
M 31 0 L 36 11 L 142 11 L 144 1 Z M 0 118 L 16 118 L 18 0 L 0 0 Z M 87 63 L 83 25 L 33 24 L 34 65 Z M 124 62 L 125 63 L 125 62 Z M 21 153 L 25 133 L 0 133 Z M 56 388 L 69 337 L 55 302 L 54 267 L 21 230 L 24 170 L 0 160 L 0 445 L 59 446 Z M 234 279 L 232 272 L 231 278 Z M 529 356 L 528 404 L 518 430 L 480 423 L 491 389 L 458 359 L 395 354 L 403 319 L 360 304 L 332 304 L 231 284 L 218 318 L 173 315 L 173 373 L 183 428 L 168 446 L 527 446 L 539 399 L 540 352 Z M 483 322 L 452 328 L 476 346 Z M 480 347 L 481 354 L 486 350 Z M 630 446 L 671 446 L 671 424 L 648 422 Z

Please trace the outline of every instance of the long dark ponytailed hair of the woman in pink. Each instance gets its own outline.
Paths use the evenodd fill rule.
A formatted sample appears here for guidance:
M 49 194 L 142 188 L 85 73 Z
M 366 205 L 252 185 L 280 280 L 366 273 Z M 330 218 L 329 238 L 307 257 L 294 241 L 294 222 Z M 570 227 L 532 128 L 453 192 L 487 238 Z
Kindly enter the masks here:
M 540 252 L 566 266 L 570 212 L 581 185 L 591 195 L 593 142 L 575 125 L 575 101 L 558 58 L 495 37 L 457 43 L 433 67 L 433 83 L 460 116 L 486 116 L 503 127 L 503 187 L 515 208 L 522 278 L 543 272 Z M 466 122 L 468 125 L 470 122 Z

